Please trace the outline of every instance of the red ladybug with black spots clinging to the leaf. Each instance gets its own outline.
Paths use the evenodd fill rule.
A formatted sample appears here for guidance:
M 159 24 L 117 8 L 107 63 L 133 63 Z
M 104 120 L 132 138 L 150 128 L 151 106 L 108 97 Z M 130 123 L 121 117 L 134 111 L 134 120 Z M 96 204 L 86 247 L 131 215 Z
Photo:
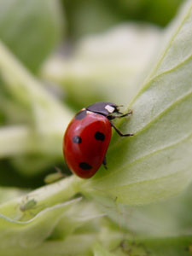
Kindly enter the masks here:
M 107 169 L 105 155 L 112 127 L 121 137 L 133 136 L 122 134 L 112 120 L 131 113 L 120 113 L 119 107 L 111 102 L 96 102 L 81 109 L 67 126 L 63 138 L 63 154 L 69 169 L 83 178 L 92 177 L 102 164 Z

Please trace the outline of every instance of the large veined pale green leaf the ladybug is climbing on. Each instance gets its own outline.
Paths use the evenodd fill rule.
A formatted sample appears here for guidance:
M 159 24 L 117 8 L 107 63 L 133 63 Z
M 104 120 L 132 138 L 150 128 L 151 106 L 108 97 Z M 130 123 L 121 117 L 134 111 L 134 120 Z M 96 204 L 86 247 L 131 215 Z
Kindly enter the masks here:
M 84 190 L 136 205 L 177 195 L 192 179 L 192 1 L 166 31 L 153 73 L 129 106 L 133 114 L 113 136 L 108 170 Z

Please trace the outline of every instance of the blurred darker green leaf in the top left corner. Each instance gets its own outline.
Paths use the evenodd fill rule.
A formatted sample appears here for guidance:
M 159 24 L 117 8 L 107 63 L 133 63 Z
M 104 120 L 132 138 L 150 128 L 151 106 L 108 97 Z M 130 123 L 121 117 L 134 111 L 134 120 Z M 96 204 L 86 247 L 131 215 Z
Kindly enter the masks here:
M 58 1 L 0 1 L 0 38 L 34 72 L 61 39 L 61 21 Z

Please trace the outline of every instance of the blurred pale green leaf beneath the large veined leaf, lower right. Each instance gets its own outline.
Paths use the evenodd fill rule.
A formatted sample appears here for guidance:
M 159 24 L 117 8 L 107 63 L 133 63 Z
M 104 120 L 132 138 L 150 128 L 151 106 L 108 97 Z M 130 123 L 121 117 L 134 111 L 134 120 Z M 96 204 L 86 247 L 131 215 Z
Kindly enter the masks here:
M 125 206 L 108 198 L 94 197 L 98 207 L 115 222 L 119 230 L 143 237 L 170 237 L 189 234 L 192 227 L 192 184 L 181 195 L 143 206 Z

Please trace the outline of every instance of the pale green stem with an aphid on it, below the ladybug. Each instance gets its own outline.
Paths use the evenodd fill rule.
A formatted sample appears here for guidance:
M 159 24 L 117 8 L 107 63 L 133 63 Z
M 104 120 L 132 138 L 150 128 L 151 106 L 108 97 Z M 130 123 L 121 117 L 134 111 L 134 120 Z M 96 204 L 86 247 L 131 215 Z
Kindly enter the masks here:
M 0 212 L 15 220 L 31 219 L 44 208 L 53 207 L 72 198 L 79 192 L 80 183 L 82 180 L 75 176 L 64 178 L 57 183 L 46 185 L 27 195 L 3 203 Z M 32 201 L 35 203 L 31 204 Z

